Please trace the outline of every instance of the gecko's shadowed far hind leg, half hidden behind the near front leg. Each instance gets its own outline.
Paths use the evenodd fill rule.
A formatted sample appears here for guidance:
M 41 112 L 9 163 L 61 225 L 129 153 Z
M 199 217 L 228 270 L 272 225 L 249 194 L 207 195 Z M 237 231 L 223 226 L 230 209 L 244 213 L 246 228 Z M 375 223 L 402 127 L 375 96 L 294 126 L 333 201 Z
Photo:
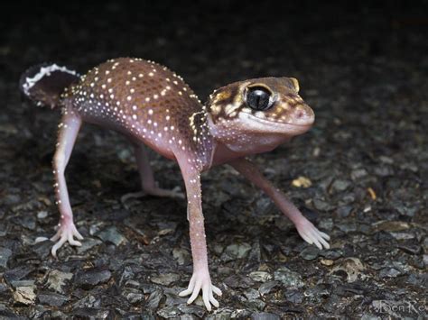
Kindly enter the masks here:
M 130 198 L 144 197 L 146 195 L 184 199 L 184 194 L 181 192 L 180 187 L 174 187 L 172 190 L 169 190 L 157 186 L 154 180 L 154 171 L 150 167 L 150 161 L 143 143 L 135 144 L 135 159 L 143 190 L 122 196 L 120 199 L 122 203 L 125 203 Z

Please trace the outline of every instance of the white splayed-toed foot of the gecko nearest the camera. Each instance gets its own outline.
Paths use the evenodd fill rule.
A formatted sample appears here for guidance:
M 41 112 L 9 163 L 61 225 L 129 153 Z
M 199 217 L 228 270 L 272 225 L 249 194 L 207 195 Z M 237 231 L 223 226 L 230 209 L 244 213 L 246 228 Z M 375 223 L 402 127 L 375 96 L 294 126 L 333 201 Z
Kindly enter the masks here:
M 209 278 L 209 271 L 195 272 L 191 276 L 189 287 L 179 293 L 180 297 L 186 297 L 191 295 L 187 304 L 190 305 L 199 295 L 200 289 L 202 289 L 202 300 L 208 311 L 211 311 L 211 304 L 219 307 L 219 301 L 213 295 L 213 292 L 217 296 L 221 296 L 221 290 L 211 283 Z

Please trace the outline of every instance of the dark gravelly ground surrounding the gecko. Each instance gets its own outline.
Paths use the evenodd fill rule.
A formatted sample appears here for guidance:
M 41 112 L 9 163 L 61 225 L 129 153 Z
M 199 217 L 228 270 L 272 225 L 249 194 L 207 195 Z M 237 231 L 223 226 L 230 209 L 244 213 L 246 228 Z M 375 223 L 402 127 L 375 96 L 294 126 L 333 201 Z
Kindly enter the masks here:
M 313 4 L 4 4 L 0 317 L 428 317 L 427 3 Z M 209 314 L 200 298 L 187 306 L 177 297 L 191 276 L 185 201 L 121 203 L 139 189 L 130 145 L 86 125 L 67 169 L 85 240 L 53 259 L 52 243 L 36 239 L 51 236 L 59 217 L 59 113 L 24 101 L 17 81 L 46 60 L 84 71 L 119 56 L 167 65 L 202 100 L 235 80 L 299 78 L 316 125 L 254 160 L 330 233 L 331 249 L 303 242 L 233 169 L 211 169 L 203 206 L 211 278 L 224 295 Z M 178 167 L 151 156 L 161 185 L 183 188 Z

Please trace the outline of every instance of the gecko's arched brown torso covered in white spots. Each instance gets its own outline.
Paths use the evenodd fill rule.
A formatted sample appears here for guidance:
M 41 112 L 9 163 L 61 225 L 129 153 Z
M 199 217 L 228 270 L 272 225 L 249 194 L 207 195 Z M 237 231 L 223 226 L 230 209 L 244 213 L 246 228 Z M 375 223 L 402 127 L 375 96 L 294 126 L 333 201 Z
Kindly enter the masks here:
M 182 78 L 154 62 L 108 60 L 68 88 L 64 105 L 84 121 L 124 133 L 169 159 L 191 154 L 195 166 L 209 165 L 212 138 L 204 106 Z

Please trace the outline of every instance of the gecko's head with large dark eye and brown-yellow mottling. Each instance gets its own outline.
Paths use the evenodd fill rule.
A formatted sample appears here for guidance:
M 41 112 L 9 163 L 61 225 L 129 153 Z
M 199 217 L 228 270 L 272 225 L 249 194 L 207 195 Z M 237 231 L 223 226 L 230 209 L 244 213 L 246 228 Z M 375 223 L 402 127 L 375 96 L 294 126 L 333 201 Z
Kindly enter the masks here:
M 305 133 L 315 116 L 298 92 L 295 78 L 256 78 L 220 87 L 207 103 L 211 133 L 222 141 L 240 134 L 286 140 Z

